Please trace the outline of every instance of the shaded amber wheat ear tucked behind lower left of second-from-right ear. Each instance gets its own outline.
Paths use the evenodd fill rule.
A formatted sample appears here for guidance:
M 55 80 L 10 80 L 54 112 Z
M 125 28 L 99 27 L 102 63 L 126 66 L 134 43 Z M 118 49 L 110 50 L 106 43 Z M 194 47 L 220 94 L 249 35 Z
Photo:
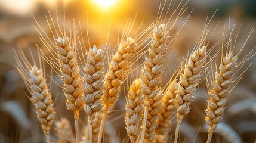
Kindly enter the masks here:
M 175 116 L 175 95 L 178 92 L 178 81 L 177 79 L 172 80 L 169 84 L 167 90 L 161 99 L 161 112 L 159 115 L 159 127 L 158 132 L 165 134 L 168 132 L 170 125 L 172 124 L 172 119 Z

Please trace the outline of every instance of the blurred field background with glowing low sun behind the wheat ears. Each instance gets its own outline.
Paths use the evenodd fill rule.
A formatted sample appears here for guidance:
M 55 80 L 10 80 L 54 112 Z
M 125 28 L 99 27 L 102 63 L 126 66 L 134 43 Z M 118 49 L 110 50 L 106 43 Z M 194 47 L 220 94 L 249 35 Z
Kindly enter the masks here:
M 171 11 L 177 7 L 180 1 L 173 0 L 169 9 L 167 18 L 171 16 Z M 185 1 L 186 2 L 186 1 Z M 183 4 L 185 3 L 183 2 Z M 164 1 L 156 0 L 1 0 L 0 1 L 0 142 L 43 142 L 44 135 L 41 131 L 36 115 L 33 110 L 33 105 L 26 97 L 26 86 L 18 74 L 14 65 L 13 48 L 20 46 L 26 54 L 29 55 L 29 50 L 36 56 L 36 45 L 44 50 L 44 44 L 38 38 L 38 32 L 35 27 L 39 28 L 33 17 L 38 21 L 39 25 L 44 29 L 48 36 L 51 36 L 45 15 L 50 19 L 49 11 L 54 20 L 57 19 L 60 23 L 67 26 L 67 31 L 70 30 L 69 24 L 75 21 L 78 29 L 83 35 L 89 35 L 90 46 L 96 44 L 98 47 L 104 48 L 107 40 L 111 41 L 110 47 L 115 47 L 119 37 L 125 29 L 127 20 L 135 20 L 134 29 L 139 29 L 142 32 L 149 25 L 156 21 L 158 16 L 159 5 L 163 5 Z M 166 1 L 164 13 L 168 10 L 170 1 Z M 214 45 L 223 35 L 224 26 L 236 23 L 238 31 L 242 25 L 235 51 L 239 51 L 240 47 L 245 42 L 249 31 L 256 24 L 256 2 L 252 0 L 190 0 L 187 3 L 188 10 L 181 17 L 181 20 L 186 18 L 192 11 L 192 17 L 184 26 L 184 29 L 178 36 L 177 42 L 168 57 L 168 66 L 177 64 L 181 61 L 184 55 L 188 54 L 188 47 L 192 49 L 202 32 L 205 25 L 206 17 L 214 15 L 210 26 L 215 32 L 209 41 L 209 45 Z M 32 17 L 33 15 L 33 17 Z M 229 18 L 230 15 L 230 18 Z M 208 18 L 209 19 L 209 18 Z M 35 27 L 34 27 L 35 26 Z M 178 27 L 174 27 L 174 29 Z M 72 28 L 71 28 L 72 29 Z M 109 33 L 108 33 L 109 31 Z M 107 39 L 109 36 L 109 39 Z M 84 36 L 85 48 L 88 48 L 87 36 Z M 252 33 L 249 38 L 245 50 L 241 55 L 244 57 L 256 45 L 256 32 Z M 36 44 L 36 45 L 35 45 Z M 178 52 L 180 51 L 180 52 Z M 177 54 L 178 52 L 178 54 Z M 174 55 L 177 54 L 177 57 Z M 221 56 L 221 55 L 220 55 Z M 220 56 L 217 57 L 218 61 Z M 141 60 L 140 60 L 141 62 Z M 226 129 L 229 132 L 234 132 L 237 138 L 243 142 L 254 142 L 256 139 L 256 57 L 252 57 L 237 73 L 237 76 L 244 71 L 249 64 L 248 70 L 243 73 L 243 78 L 232 91 L 232 95 L 227 105 L 226 113 L 223 122 L 227 125 Z M 135 65 L 136 67 L 137 65 Z M 47 74 L 51 74 L 50 66 L 45 65 Z M 54 72 L 53 72 L 54 73 Z M 166 71 L 166 77 L 169 71 Z M 61 84 L 61 79 L 53 74 L 55 82 Z M 166 78 L 168 79 L 168 78 Z M 48 79 L 51 82 L 51 79 Z M 164 80 L 163 83 L 168 82 Z M 129 83 L 129 80 L 128 80 Z M 127 85 L 127 84 L 125 84 Z M 165 84 L 163 84 L 165 85 Z M 55 105 L 57 107 L 57 119 L 66 117 L 73 124 L 73 113 L 68 111 L 64 105 L 64 96 L 60 87 L 54 82 L 51 84 L 51 92 L 53 98 L 57 99 Z M 54 89 L 54 90 L 53 90 Z M 192 111 L 186 117 L 184 126 L 181 126 L 181 136 L 184 136 L 186 142 L 205 142 L 207 138 L 207 130 L 204 125 L 204 109 L 206 108 L 206 86 L 202 82 L 197 91 L 198 97 L 192 104 Z M 125 115 L 125 98 L 121 95 L 116 110 L 110 113 L 109 129 L 110 135 L 115 131 L 115 141 L 121 142 L 126 136 L 124 128 Z M 85 125 L 85 114 L 82 113 L 81 126 Z M 118 124 L 112 124 L 119 122 Z M 32 128 L 33 127 L 33 128 Z M 199 127 L 201 127 L 199 129 Z M 186 130 L 190 130 L 188 133 Z M 230 131 L 232 130 L 232 131 Z M 198 132 L 199 131 L 199 132 Z M 54 128 L 52 129 L 51 138 L 53 141 Z M 196 137 L 196 133 L 198 135 Z M 183 140 L 182 140 L 183 141 Z M 212 139 L 214 142 L 230 142 L 225 134 L 215 135 Z

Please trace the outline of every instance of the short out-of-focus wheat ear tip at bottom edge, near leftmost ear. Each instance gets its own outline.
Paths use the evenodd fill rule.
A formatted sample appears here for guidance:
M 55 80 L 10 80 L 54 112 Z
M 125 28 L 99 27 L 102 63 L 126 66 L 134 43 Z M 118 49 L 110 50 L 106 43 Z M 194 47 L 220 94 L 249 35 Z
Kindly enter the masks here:
M 72 126 L 67 119 L 60 119 L 55 123 L 55 131 L 58 137 L 58 143 L 72 143 L 75 142 L 73 136 Z

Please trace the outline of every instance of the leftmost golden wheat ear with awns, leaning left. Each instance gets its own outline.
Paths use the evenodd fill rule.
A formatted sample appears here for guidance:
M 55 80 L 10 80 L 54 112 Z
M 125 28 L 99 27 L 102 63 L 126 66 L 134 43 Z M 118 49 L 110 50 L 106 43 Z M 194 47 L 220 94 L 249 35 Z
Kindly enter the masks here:
M 24 83 L 27 86 L 32 97 L 30 100 L 35 105 L 35 111 L 39 122 L 41 123 L 47 143 L 50 143 L 50 129 L 55 118 L 55 110 L 51 92 L 45 78 L 44 66 L 39 57 L 39 67 L 37 66 L 33 55 L 31 54 L 33 63 L 27 60 L 26 55 L 21 48 L 14 49 L 17 62 L 17 70 L 19 71 Z

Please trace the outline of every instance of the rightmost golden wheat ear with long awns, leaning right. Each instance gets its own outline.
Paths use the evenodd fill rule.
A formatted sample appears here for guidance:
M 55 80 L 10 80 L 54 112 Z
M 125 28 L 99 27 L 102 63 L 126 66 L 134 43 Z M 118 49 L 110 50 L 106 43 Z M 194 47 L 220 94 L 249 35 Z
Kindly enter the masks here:
M 255 27 L 252 28 L 252 30 L 249 32 L 246 41 L 243 43 L 242 48 L 240 48 L 239 53 L 236 55 L 233 54 L 236 44 L 232 44 L 233 41 L 230 40 L 232 38 L 232 33 L 230 33 L 229 42 L 227 44 L 227 52 L 221 59 L 220 66 L 218 68 L 216 66 L 215 77 L 209 77 L 211 80 L 212 88 L 209 87 L 210 84 L 207 80 L 209 98 L 207 100 L 207 109 L 205 110 L 205 122 L 207 125 L 209 125 L 207 140 L 208 143 L 211 142 L 212 133 L 223 118 L 230 92 L 233 88 L 235 88 L 235 86 L 232 87 L 232 83 L 236 81 L 236 79 L 234 79 L 235 73 L 239 71 L 240 67 L 243 66 L 246 61 L 255 55 L 254 48 L 248 53 L 248 55 L 243 57 L 241 61 L 238 61 L 238 58 L 240 57 L 240 54 L 243 51 L 248 38 L 251 36 L 254 30 Z M 237 36 L 238 35 L 236 35 L 236 38 Z M 234 43 L 236 43 L 236 40 Z M 233 47 L 229 47 L 232 45 Z M 242 77 L 242 74 L 238 77 L 238 79 L 240 79 L 240 77 Z

